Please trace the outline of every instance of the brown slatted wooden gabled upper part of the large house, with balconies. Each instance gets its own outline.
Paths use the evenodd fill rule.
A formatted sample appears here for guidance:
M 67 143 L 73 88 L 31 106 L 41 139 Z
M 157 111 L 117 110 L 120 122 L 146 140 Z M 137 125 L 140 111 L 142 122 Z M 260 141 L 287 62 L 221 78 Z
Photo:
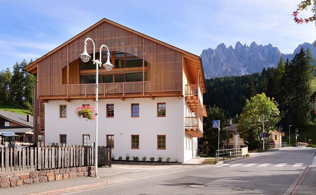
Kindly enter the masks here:
M 88 37 L 94 40 L 96 50 L 102 44 L 108 46 L 114 65 L 111 71 L 99 69 L 101 78 L 98 86 L 99 98 L 119 98 L 124 101 L 125 98 L 150 97 L 154 99 L 155 97 L 177 96 L 191 99 L 188 102 L 190 102 L 191 111 L 197 113 L 194 119 L 197 122 L 194 122 L 194 128 L 188 128 L 190 133 L 187 134 L 201 137 L 202 127 L 198 128 L 198 126 L 203 123 L 198 121 L 203 118 L 201 94 L 205 92 L 205 84 L 199 56 L 107 19 L 100 20 L 24 68 L 25 71 L 37 75 L 38 78 L 34 100 L 38 100 L 39 103 L 34 104 L 37 109 L 34 110 L 34 118 L 39 118 L 39 132 L 45 130 L 41 125 L 44 122 L 40 116 L 44 115 L 44 106 L 40 109 L 41 102 L 95 98 L 95 84 L 82 83 L 85 75 L 95 75 L 95 69 L 80 68 L 79 55 L 82 53 L 84 40 Z M 93 52 L 92 43 L 88 42 L 87 49 L 88 53 Z M 99 53 L 96 54 L 96 59 L 99 55 Z M 102 56 L 106 56 L 105 51 L 102 51 Z M 105 58 L 102 57 L 102 59 Z M 138 65 L 127 67 L 128 59 L 137 59 Z M 125 66 L 119 66 L 119 62 L 123 61 Z M 127 74 L 131 73 L 139 73 L 143 78 L 128 81 Z M 123 82 L 114 81 L 114 75 L 119 74 L 124 74 Z M 111 75 L 113 75 L 113 82 L 104 82 L 104 78 Z M 191 131 L 197 133 L 191 133 Z

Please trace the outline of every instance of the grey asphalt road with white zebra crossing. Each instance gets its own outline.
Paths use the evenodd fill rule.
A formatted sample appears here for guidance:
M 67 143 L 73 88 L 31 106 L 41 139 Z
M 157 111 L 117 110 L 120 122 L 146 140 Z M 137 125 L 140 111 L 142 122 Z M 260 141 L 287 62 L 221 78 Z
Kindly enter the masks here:
M 228 164 L 199 167 L 70 194 L 290 194 L 307 166 L 316 166 L 312 165 L 314 152 L 312 148 L 287 148 Z M 190 185 L 205 187 L 191 188 Z

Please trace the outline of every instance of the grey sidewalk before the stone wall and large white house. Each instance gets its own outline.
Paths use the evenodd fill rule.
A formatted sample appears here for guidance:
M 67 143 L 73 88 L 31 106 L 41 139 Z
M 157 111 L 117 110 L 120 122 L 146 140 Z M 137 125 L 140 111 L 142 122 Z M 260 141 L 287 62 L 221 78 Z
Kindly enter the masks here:
M 111 168 L 99 168 L 96 177 L 78 177 L 59 181 L 31 184 L 0 189 L 0 194 L 63 194 L 75 192 L 94 187 L 106 186 L 120 183 L 127 180 L 134 180 L 142 177 L 149 177 L 159 174 L 166 174 L 174 171 L 181 171 L 190 168 L 203 167 L 205 165 L 169 165 L 169 166 L 146 166 L 146 165 L 112 165 Z M 50 192 L 48 192 L 50 191 Z M 45 193 L 40 193 L 45 192 Z

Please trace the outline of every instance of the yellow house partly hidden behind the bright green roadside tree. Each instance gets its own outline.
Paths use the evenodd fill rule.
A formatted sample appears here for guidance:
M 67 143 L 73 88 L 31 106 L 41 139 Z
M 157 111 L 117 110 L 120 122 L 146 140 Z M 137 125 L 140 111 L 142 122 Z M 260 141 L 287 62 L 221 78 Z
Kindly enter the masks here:
M 240 133 L 237 130 L 237 124 L 232 124 L 232 120 L 228 120 L 228 124 L 225 124 L 225 129 L 228 130 L 228 139 L 224 143 L 224 149 L 240 148 L 244 143 L 244 139 L 240 138 Z M 269 139 L 274 140 L 276 147 L 279 147 L 282 143 L 282 131 L 279 130 L 270 131 Z

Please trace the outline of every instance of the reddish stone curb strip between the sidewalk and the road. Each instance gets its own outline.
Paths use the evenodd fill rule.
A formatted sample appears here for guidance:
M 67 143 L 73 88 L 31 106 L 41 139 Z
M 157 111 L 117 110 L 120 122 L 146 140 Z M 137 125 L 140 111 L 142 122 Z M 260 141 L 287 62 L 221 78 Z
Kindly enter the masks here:
M 92 188 L 96 188 L 96 187 L 113 185 L 113 184 L 123 183 L 123 182 L 124 181 L 102 181 L 102 182 L 86 184 L 86 185 L 82 185 L 82 186 L 74 186 L 74 187 L 67 187 L 67 188 L 62 188 L 62 189 L 46 191 L 46 192 L 32 193 L 32 194 L 28 194 L 28 195 L 58 195 L 58 194 L 66 194 L 66 193 L 78 192 L 78 191 L 82 191 L 82 190 L 88 190 L 88 189 L 92 189 Z

